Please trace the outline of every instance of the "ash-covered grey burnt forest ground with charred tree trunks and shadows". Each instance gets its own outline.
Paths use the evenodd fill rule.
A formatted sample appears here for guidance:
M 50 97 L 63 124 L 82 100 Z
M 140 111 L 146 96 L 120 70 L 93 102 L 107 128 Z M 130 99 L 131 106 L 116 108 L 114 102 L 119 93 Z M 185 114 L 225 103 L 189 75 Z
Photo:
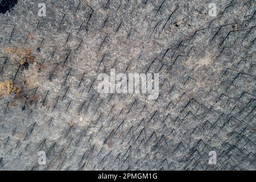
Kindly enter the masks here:
M 18 1 L 0 14 L 0 169 L 255 170 L 255 1 Z M 99 73 L 159 73 L 159 97 Z M 45 151 L 46 165 L 38 164 Z M 217 164 L 209 165 L 209 151 Z

